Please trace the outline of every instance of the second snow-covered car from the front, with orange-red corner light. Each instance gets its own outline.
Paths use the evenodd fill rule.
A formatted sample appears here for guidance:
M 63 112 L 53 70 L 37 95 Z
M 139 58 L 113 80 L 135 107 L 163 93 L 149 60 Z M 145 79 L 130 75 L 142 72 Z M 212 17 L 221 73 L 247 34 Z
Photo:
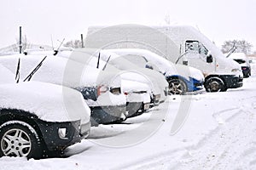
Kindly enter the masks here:
M 121 93 L 121 80 L 115 74 L 53 55 L 46 58 L 44 55 L 2 56 L 0 62 L 15 73 L 18 59 L 21 80 L 30 79 L 32 69 L 44 59 L 32 80 L 79 90 L 90 106 L 92 126 L 125 120 L 126 99 Z

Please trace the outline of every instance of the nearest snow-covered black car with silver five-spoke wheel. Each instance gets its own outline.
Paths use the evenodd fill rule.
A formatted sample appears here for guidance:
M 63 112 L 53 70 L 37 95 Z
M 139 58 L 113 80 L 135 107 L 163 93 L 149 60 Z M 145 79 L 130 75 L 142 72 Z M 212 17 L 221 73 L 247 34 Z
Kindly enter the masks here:
M 0 65 L 0 156 L 41 158 L 80 142 L 90 132 L 82 94 L 47 82 L 15 82 Z

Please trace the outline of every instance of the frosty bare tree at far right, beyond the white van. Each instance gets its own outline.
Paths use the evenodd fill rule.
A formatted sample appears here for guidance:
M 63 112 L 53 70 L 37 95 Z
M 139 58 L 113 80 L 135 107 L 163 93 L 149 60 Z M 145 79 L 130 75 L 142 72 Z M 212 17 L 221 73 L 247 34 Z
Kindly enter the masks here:
M 225 41 L 221 50 L 223 53 L 228 53 L 234 46 L 236 47 L 236 52 L 244 54 L 249 54 L 251 52 L 251 48 L 253 48 L 253 45 L 245 40 L 232 40 Z

